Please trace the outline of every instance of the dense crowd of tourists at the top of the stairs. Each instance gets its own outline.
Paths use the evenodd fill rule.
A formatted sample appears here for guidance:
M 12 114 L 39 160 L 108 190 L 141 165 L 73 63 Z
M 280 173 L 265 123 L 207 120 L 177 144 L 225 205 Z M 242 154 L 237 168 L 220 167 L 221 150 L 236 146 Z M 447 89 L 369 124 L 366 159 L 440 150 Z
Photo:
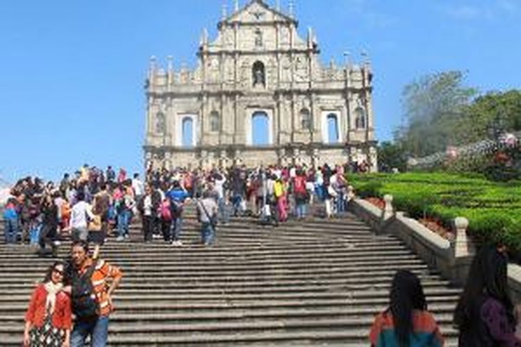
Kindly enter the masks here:
M 201 242 L 215 241 L 217 223 L 231 215 L 256 217 L 278 224 L 304 219 L 309 206 L 321 204 L 323 217 L 345 212 L 350 193 L 345 168 L 233 167 L 230 169 L 148 169 L 144 180 L 85 164 L 59 183 L 40 178 L 19 180 L 3 210 L 7 244 L 39 246 L 42 255 L 56 255 L 60 239 L 72 237 L 104 244 L 129 239 L 135 219 L 142 221 L 144 242 L 163 239 L 181 246 L 183 210 L 195 205 L 201 222 Z

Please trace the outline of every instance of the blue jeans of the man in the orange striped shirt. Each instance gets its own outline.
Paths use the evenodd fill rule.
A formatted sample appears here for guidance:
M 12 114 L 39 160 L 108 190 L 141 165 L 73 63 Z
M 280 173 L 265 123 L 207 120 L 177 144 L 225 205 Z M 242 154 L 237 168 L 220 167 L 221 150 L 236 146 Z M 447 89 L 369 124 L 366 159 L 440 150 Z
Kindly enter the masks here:
M 108 338 L 108 316 L 95 321 L 76 321 L 71 333 L 71 347 L 85 346 L 85 339 L 90 335 L 90 346 L 105 347 Z

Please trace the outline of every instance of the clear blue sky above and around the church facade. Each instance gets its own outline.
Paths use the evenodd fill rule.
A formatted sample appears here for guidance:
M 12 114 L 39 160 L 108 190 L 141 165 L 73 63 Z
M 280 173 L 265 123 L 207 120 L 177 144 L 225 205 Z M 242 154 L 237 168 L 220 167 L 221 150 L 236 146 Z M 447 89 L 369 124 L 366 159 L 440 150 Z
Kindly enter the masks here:
M 140 171 L 149 56 L 195 65 L 223 2 L 1 1 L 0 177 L 56 179 L 84 162 Z M 404 85 L 423 74 L 468 71 L 483 92 L 521 85 L 520 0 L 295 2 L 301 35 L 314 28 L 324 63 L 370 54 L 380 140 L 401 122 Z

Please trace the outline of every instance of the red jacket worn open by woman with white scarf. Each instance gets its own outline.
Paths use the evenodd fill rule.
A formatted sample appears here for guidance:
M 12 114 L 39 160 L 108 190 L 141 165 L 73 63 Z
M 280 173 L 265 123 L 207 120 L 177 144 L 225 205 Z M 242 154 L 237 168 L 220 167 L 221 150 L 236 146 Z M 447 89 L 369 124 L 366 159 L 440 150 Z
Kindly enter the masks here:
M 25 320 L 41 328 L 45 319 L 45 303 L 47 290 L 43 284 L 38 285 L 31 296 L 31 303 L 25 314 Z M 53 327 L 58 329 L 70 329 L 72 327 L 71 298 L 65 291 L 56 294 L 56 304 L 52 316 Z

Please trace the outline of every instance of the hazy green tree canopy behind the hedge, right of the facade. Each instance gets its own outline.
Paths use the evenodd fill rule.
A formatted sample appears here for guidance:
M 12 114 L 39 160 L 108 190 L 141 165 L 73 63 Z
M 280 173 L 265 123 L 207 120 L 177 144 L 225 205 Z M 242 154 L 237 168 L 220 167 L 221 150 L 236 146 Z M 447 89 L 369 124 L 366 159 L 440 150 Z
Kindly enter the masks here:
M 465 74 L 447 71 L 422 76 L 404 87 L 404 125 L 395 142 L 406 155 L 421 158 L 521 130 L 521 91 L 488 92 L 463 85 Z

